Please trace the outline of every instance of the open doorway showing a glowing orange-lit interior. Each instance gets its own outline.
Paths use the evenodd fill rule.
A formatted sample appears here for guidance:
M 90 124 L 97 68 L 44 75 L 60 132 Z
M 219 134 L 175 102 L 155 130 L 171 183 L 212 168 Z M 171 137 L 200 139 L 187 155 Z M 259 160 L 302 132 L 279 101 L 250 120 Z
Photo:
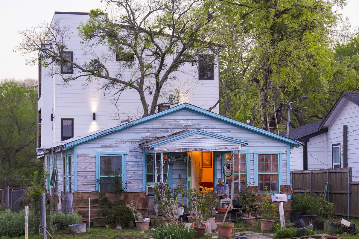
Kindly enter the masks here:
M 187 153 L 188 159 L 190 159 L 190 163 L 187 163 L 187 186 L 191 185 L 192 188 L 197 188 L 200 191 L 213 191 L 213 152 L 191 151 Z

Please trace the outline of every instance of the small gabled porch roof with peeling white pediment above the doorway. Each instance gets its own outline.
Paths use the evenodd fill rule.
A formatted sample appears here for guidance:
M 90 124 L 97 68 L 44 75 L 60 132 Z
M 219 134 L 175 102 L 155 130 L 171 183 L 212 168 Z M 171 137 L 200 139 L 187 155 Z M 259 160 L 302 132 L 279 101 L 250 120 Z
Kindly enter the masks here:
M 248 142 L 204 130 L 181 130 L 144 142 L 140 147 L 152 149 L 154 152 L 183 152 L 241 150 L 242 145 L 248 145 Z

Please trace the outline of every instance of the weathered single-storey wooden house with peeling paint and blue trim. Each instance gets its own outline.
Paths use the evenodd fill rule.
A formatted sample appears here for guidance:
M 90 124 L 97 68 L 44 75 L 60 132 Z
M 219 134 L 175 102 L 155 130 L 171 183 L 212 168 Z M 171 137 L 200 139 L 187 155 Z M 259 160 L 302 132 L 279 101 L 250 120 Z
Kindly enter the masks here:
M 191 104 L 37 149 L 52 193 L 111 191 L 118 174 L 128 192 L 153 195 L 155 182 L 213 187 L 218 178 L 279 192 L 290 182 L 290 149 L 300 143 Z M 234 161 L 225 177 L 225 163 Z M 101 185 L 100 182 L 101 181 Z M 240 183 L 239 183 L 240 182 Z M 230 184 L 232 189 L 232 184 Z

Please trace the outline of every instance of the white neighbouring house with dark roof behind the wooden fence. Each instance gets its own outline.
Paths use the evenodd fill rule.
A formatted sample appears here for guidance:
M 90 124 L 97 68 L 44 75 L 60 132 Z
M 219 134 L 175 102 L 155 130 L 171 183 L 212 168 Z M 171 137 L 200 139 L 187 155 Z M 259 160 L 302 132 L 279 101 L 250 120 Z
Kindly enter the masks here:
M 358 117 L 359 93 L 342 93 L 323 120 L 289 131 L 303 144 L 291 150 L 290 170 L 351 167 L 359 177 Z

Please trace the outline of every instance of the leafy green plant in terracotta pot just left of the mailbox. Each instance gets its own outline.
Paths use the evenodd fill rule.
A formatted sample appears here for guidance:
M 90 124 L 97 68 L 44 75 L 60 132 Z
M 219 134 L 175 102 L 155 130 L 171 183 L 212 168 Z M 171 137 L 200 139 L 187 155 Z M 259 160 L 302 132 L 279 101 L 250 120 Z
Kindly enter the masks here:
M 270 203 L 269 201 L 268 191 L 264 193 L 264 197 L 262 202 L 260 203 L 261 211 L 260 214 L 262 216 L 261 221 L 261 231 L 270 232 L 273 228 L 275 217 L 277 215 L 277 208 L 275 205 Z

